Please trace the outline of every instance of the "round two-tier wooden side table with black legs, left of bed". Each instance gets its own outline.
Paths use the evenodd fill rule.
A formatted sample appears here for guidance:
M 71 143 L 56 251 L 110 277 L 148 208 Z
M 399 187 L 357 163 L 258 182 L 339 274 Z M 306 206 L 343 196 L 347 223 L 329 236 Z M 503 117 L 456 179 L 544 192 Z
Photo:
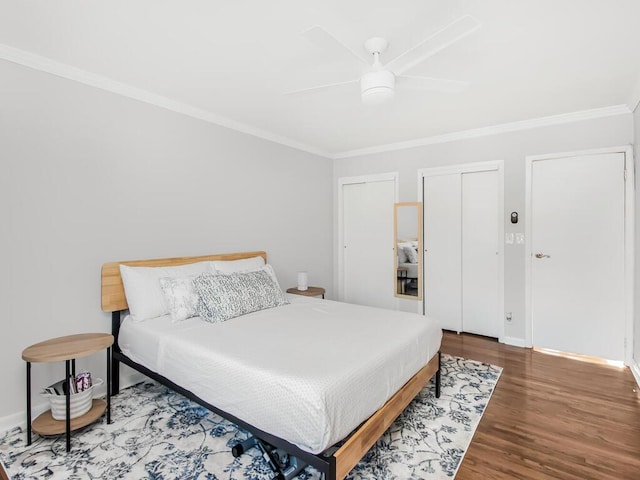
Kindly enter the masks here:
M 66 433 L 67 452 L 71 449 L 71 431 L 95 422 L 107 411 L 107 423 L 111 423 L 111 346 L 113 335 L 109 333 L 81 333 L 52 338 L 36 343 L 22 351 L 22 359 L 27 362 L 27 445 L 31 445 L 31 430 L 41 435 Z M 66 419 L 55 420 L 51 410 L 47 410 L 33 423 L 31 422 L 31 363 L 65 362 L 65 379 L 76 374 L 76 359 L 107 349 L 107 401 L 94 399 L 91 409 L 77 418 L 71 419 L 71 397 L 66 393 Z M 68 383 L 67 383 L 68 385 Z

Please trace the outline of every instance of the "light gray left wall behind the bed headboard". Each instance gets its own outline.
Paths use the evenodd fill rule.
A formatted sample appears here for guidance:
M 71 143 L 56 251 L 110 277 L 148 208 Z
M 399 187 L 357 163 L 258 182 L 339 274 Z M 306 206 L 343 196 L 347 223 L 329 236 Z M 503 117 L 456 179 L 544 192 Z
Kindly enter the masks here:
M 4 61 L 0 85 L 0 426 L 23 418 L 23 348 L 110 330 L 104 262 L 266 250 L 283 288 L 307 270 L 331 297 L 330 160 Z

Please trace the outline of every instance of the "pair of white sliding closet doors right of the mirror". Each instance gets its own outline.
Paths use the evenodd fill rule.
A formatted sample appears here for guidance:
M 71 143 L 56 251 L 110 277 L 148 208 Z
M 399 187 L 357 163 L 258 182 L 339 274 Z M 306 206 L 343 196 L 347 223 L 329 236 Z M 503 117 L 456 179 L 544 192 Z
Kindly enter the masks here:
M 423 177 L 425 315 L 444 329 L 501 334 L 500 188 L 495 168 Z

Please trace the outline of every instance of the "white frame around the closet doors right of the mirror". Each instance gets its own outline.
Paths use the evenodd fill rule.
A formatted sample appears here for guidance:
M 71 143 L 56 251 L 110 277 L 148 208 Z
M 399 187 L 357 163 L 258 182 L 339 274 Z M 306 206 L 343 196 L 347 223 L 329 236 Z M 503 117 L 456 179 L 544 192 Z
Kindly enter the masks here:
M 504 160 L 492 160 L 487 162 L 463 163 L 457 165 L 448 165 L 442 167 L 430 167 L 418 169 L 418 195 L 420 201 L 423 202 L 424 215 L 424 177 L 435 177 L 438 175 L 450 175 L 454 173 L 475 173 L 496 171 L 498 173 L 498 231 L 497 248 L 498 248 L 498 341 L 505 343 L 505 313 L 504 313 Z M 424 229 L 426 223 L 422 222 L 422 238 L 423 247 L 425 245 Z M 422 275 L 426 270 L 424 248 L 422 255 Z M 424 288 L 425 282 L 422 279 Z M 422 292 L 422 314 L 426 313 L 426 295 Z

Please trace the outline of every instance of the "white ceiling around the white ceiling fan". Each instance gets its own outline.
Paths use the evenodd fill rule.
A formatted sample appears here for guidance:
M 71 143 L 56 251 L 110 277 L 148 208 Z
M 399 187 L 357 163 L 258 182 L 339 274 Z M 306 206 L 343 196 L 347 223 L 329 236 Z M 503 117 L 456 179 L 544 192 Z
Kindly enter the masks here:
M 0 5 L 0 58 L 29 64 L 21 59 L 35 54 L 45 70 L 76 67 L 106 77 L 100 80 L 105 84 L 119 82 L 120 90 L 130 88 L 138 98 L 153 94 L 150 101 L 172 101 L 183 111 L 194 107 L 201 118 L 327 156 L 629 104 L 640 72 L 638 0 Z M 390 42 L 384 63 L 463 15 L 481 28 L 407 72 L 470 82 L 462 93 L 399 85 L 393 102 L 378 108 L 361 104 L 357 84 L 284 95 L 361 73 L 348 53 L 329 52 L 303 37 L 310 27 L 323 27 L 363 55 L 364 40 L 383 36 Z

